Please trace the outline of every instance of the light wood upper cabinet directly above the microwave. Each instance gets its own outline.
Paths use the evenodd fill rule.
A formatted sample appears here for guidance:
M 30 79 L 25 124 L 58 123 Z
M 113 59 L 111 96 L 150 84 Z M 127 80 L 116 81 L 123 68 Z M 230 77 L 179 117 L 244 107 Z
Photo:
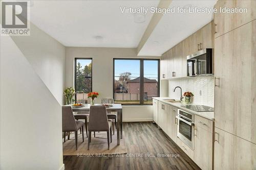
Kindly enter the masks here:
M 197 53 L 204 48 L 212 48 L 212 24 L 212 21 L 209 22 L 206 26 L 190 36 L 190 54 Z

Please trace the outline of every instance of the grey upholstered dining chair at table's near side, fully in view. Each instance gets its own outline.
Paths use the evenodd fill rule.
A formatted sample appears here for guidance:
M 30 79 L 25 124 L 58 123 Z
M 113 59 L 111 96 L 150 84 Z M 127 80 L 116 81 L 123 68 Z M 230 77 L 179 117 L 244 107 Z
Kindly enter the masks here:
M 89 116 L 89 138 L 88 138 L 88 150 L 90 149 L 90 142 L 92 132 L 106 131 L 108 137 L 108 150 L 110 149 L 110 142 L 112 142 L 112 120 L 109 120 L 106 116 L 105 106 L 91 106 Z

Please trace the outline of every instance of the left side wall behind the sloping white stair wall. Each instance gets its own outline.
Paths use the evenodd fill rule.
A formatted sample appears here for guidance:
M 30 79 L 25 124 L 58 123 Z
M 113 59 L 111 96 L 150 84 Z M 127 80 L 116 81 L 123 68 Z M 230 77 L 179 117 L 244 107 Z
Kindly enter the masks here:
M 30 22 L 30 36 L 12 36 L 40 79 L 63 104 L 65 46 Z

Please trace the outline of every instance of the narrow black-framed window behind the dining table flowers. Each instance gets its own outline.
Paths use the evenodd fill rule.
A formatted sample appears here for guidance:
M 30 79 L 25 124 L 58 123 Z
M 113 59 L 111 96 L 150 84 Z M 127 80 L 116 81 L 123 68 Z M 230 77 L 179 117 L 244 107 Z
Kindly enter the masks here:
M 92 59 L 75 58 L 75 100 L 81 103 L 88 100 L 87 94 L 92 92 Z

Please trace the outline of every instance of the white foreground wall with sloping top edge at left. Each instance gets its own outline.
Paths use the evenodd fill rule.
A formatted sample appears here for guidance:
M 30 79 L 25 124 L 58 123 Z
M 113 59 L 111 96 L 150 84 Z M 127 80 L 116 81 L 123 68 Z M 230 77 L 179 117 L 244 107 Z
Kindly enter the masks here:
M 0 169 L 60 169 L 61 106 L 26 57 L 1 37 Z

